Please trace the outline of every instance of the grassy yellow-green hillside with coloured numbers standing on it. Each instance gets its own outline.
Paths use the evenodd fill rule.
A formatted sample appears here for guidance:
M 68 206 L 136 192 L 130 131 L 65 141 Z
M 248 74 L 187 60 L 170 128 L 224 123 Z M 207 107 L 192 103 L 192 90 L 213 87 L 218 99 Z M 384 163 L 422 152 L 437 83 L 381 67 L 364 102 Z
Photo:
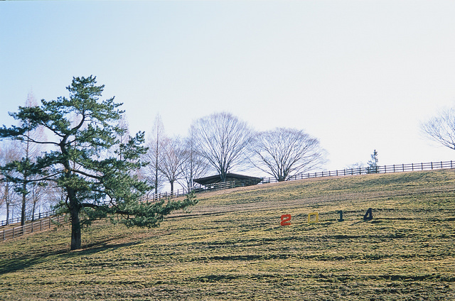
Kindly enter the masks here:
M 100 221 L 80 251 L 68 226 L 0 243 L 0 300 L 455 300 L 454 197 L 455 170 L 202 194 L 157 229 Z

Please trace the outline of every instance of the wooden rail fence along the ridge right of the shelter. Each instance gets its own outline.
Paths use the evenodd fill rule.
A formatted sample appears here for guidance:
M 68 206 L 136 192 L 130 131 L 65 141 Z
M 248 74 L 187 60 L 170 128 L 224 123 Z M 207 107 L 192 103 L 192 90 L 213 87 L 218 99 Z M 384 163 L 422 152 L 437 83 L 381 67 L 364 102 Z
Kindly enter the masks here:
M 450 161 L 439 161 L 439 162 L 428 162 L 428 163 L 410 163 L 410 164 L 395 164 L 395 165 L 382 165 L 377 168 L 347 168 L 343 170 L 328 170 L 317 173 L 299 173 L 292 175 L 287 180 L 302 180 L 311 177 L 339 177 L 345 175 L 366 175 L 372 173 L 402 173 L 407 171 L 419 171 L 419 170 L 435 170 L 444 168 L 455 168 L 455 162 Z M 266 184 L 270 182 L 278 182 L 274 177 L 263 178 L 259 184 Z

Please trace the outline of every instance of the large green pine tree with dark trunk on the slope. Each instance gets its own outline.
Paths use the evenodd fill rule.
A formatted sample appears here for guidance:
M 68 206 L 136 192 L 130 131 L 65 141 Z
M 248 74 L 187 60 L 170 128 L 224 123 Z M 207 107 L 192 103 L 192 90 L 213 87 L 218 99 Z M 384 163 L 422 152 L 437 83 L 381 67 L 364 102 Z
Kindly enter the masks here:
M 125 129 L 118 126 L 124 111 L 114 98 L 100 100 L 104 85 L 96 77 L 74 77 L 69 98 L 41 101 L 41 106 L 21 107 L 11 113 L 21 126 L 0 128 L 0 137 L 48 146 L 36 163 L 38 180 L 48 180 L 65 191 L 60 210 L 71 218 L 71 249 L 81 247 L 81 225 L 107 214 L 123 214 L 124 223 L 157 226 L 172 210 L 196 204 L 193 195 L 183 201 L 140 202 L 151 189 L 134 171 L 144 163 L 144 132 L 121 143 Z M 43 126 L 52 136 L 37 141 L 27 133 Z M 114 152 L 112 152 L 114 150 Z M 23 165 L 22 165 L 23 166 Z M 17 179 L 20 181 L 20 179 Z M 81 214 L 83 212 L 83 214 Z M 81 217 L 82 216 L 82 217 Z

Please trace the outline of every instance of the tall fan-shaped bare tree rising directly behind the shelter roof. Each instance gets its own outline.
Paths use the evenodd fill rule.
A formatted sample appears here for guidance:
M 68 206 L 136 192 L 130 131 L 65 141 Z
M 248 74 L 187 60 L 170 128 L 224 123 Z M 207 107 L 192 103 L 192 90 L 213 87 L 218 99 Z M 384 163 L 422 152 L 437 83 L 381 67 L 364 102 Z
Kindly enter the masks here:
M 228 172 L 243 158 L 252 130 L 245 121 L 226 112 L 198 119 L 193 128 L 198 152 L 225 182 Z

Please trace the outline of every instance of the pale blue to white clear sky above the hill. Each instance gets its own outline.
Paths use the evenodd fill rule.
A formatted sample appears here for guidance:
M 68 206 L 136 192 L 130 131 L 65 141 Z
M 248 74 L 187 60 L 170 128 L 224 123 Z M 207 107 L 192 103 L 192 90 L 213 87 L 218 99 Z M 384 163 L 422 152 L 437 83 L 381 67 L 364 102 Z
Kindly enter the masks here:
M 422 122 L 455 105 L 455 1 L 0 1 L 0 125 L 95 75 L 130 131 L 228 111 L 303 129 L 323 170 L 455 159 Z M 232 170 L 235 172 L 236 170 Z M 265 176 L 265 175 L 264 175 Z

